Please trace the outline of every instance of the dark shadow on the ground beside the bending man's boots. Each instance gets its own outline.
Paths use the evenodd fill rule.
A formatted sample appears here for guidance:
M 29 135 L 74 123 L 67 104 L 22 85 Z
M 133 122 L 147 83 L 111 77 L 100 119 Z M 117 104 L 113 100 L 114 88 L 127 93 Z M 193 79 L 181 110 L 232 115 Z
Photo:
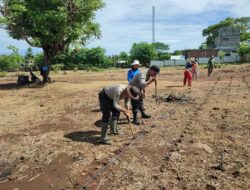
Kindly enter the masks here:
M 87 142 L 97 145 L 100 139 L 100 131 L 75 131 L 64 135 L 72 141 Z

